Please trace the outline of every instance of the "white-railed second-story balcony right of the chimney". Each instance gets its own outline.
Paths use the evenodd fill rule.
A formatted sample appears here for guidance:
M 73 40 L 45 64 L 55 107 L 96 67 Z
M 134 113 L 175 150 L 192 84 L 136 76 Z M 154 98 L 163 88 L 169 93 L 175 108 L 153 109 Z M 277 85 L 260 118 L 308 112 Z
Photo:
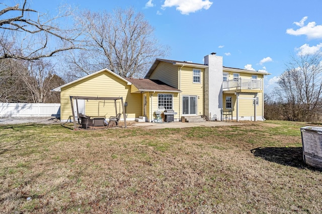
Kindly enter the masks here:
M 228 92 L 262 92 L 262 80 L 238 78 L 222 82 L 222 91 Z

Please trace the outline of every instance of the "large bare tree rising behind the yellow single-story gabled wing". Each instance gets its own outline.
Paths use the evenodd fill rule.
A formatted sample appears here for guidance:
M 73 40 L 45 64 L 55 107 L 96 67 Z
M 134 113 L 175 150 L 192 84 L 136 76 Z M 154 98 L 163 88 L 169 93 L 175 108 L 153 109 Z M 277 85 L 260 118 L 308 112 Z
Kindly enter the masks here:
M 146 73 L 155 58 L 164 56 L 167 47 L 158 44 L 154 29 L 133 9 L 94 13 L 81 12 L 76 22 L 86 31 L 87 50 L 69 54 L 70 71 L 81 77 L 108 68 L 122 77 Z

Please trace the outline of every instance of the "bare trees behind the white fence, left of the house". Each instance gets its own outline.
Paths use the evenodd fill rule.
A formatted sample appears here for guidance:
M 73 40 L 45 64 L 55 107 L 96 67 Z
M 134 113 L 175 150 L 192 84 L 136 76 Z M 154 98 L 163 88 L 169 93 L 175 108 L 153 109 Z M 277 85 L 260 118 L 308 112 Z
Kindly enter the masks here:
M 0 102 L 57 103 L 50 90 L 63 84 L 48 60 L 0 60 Z

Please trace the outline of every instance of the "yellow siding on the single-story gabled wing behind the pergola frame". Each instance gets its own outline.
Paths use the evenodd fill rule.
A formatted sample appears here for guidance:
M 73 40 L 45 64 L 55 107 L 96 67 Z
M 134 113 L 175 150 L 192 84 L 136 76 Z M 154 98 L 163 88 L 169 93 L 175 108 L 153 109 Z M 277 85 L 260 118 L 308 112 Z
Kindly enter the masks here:
M 99 73 L 89 78 L 78 81 L 61 89 L 61 120 L 72 117 L 69 96 L 91 97 L 123 97 L 123 102 L 128 103 L 127 116 L 135 118 L 141 113 L 140 94 L 131 94 L 130 85 L 125 81 L 110 74 Z M 116 102 L 118 113 L 122 113 L 121 101 Z M 89 100 L 85 101 L 85 113 L 89 116 L 115 116 L 114 101 Z

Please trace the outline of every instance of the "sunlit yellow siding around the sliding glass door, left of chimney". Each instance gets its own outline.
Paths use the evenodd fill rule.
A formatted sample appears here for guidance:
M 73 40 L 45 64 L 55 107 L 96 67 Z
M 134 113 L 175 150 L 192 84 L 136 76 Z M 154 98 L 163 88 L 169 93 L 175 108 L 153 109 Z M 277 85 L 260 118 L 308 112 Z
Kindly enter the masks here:
M 180 69 L 180 68 L 179 68 Z M 182 96 L 196 96 L 197 97 L 197 115 L 204 114 L 204 103 L 203 103 L 203 95 L 204 95 L 204 69 L 200 72 L 200 83 L 193 83 L 193 69 L 190 67 L 183 67 L 180 71 L 180 109 L 182 109 Z M 181 112 L 181 111 L 180 111 Z M 179 113 L 179 112 L 178 112 Z

